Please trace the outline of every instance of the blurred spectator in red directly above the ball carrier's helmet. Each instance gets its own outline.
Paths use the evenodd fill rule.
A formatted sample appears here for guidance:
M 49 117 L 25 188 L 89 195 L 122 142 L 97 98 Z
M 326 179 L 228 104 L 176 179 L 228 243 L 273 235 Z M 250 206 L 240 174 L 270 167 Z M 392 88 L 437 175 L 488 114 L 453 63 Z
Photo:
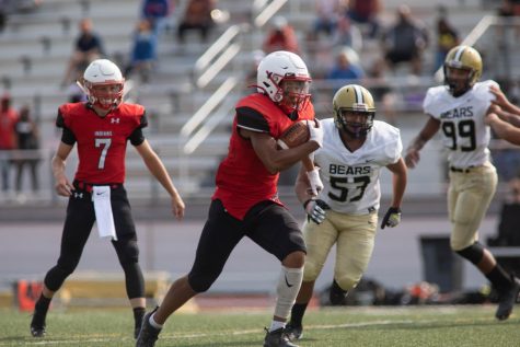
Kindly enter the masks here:
M 266 54 L 277 50 L 300 53 L 294 28 L 287 22 L 286 18 L 277 15 L 273 19 L 271 28 L 267 33 L 262 48 Z

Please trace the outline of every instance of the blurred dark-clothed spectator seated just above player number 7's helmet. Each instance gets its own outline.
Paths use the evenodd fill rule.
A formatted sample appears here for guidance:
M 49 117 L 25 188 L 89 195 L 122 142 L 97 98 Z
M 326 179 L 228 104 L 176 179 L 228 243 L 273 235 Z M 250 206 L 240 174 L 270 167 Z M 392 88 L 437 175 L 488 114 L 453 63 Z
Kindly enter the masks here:
M 65 72 L 62 86 L 71 82 L 71 78 L 76 76 L 77 71 L 83 71 L 86 66 L 104 55 L 103 42 L 101 36 L 92 31 L 92 21 L 83 19 L 79 24 L 80 35 L 74 44 L 74 51 L 69 60 L 67 70 Z

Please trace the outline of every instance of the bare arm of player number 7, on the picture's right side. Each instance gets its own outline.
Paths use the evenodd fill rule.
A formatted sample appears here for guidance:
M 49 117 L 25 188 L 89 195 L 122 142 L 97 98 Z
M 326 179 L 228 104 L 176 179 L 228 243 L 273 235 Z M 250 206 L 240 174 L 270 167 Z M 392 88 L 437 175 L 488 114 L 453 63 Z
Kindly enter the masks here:
M 176 219 L 182 219 L 184 217 L 184 210 L 186 206 L 184 205 L 184 201 L 181 198 L 177 189 L 173 185 L 173 182 L 170 178 L 166 167 L 164 167 L 161 159 L 150 147 L 150 143 L 147 140 L 145 140 L 141 144 L 136 146 L 136 150 L 139 155 L 141 155 L 148 170 L 161 183 L 164 189 L 166 189 L 167 194 L 170 194 L 172 199 L 172 213 Z

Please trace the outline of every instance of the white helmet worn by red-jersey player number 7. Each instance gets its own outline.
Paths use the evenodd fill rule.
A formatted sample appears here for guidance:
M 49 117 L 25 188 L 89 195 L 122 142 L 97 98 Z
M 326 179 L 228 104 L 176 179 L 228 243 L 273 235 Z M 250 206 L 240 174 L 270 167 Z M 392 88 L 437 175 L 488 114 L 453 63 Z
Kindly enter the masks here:
M 125 79 L 119 68 L 107 59 L 92 61 L 78 85 L 86 94 L 89 102 L 103 109 L 114 109 L 123 102 Z

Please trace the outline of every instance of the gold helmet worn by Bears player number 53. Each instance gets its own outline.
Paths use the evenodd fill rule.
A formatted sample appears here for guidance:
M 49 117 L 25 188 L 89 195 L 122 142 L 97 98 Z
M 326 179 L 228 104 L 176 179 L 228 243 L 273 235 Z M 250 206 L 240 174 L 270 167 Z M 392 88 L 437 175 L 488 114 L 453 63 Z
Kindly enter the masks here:
M 372 94 L 366 88 L 358 84 L 342 86 L 334 95 L 332 105 L 336 127 L 349 136 L 361 138 L 372 128 L 375 105 Z M 351 118 L 351 116 L 360 117 Z

